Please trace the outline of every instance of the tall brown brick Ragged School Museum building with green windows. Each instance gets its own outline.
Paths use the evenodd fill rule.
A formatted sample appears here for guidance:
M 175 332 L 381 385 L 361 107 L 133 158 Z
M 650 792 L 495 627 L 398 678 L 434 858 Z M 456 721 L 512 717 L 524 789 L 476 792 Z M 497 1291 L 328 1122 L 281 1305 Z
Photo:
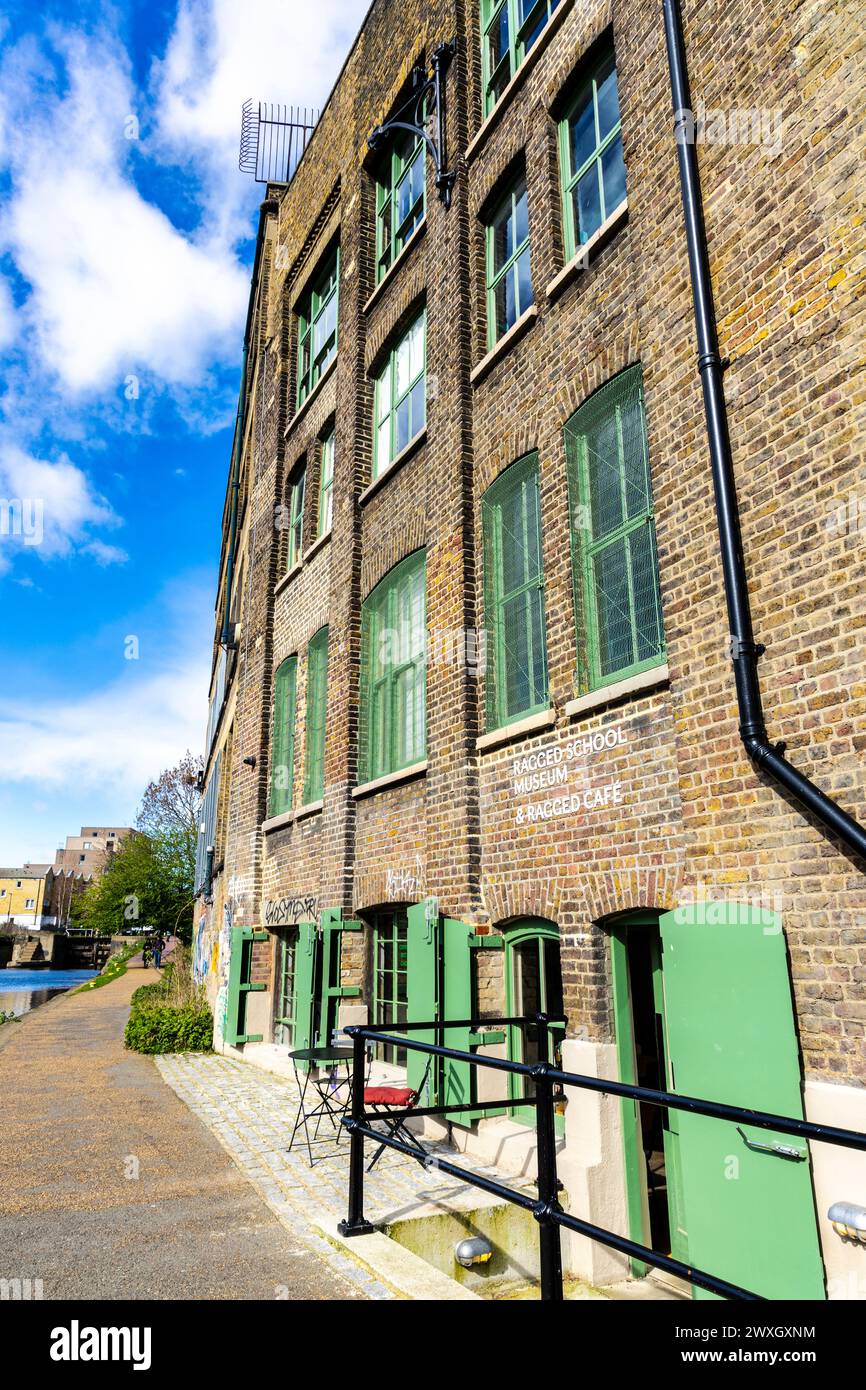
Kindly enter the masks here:
M 684 11 L 766 717 L 856 816 L 862 38 L 810 0 Z M 443 42 L 436 170 L 435 122 L 368 136 Z M 574 1072 L 866 1129 L 863 865 L 746 756 L 733 655 L 660 7 L 375 0 L 260 214 L 197 872 L 224 1048 L 542 1004 Z M 453 1141 L 525 1162 L 510 1101 Z M 571 1209 L 866 1297 L 826 1219 L 856 1156 L 762 1166 L 713 1123 L 571 1094 Z

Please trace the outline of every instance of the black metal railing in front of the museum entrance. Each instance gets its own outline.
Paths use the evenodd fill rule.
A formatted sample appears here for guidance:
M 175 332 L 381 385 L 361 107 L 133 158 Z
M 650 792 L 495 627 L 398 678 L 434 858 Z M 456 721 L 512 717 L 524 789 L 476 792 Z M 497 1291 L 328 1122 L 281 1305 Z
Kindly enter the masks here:
M 553 1020 L 553 1023 L 556 1022 L 557 1020 Z M 671 1091 L 653 1091 L 645 1086 L 628 1086 L 624 1081 L 607 1081 L 595 1076 L 581 1076 L 575 1072 L 563 1072 L 550 1062 L 544 1061 L 525 1063 L 510 1062 L 500 1056 L 480 1056 L 474 1052 L 460 1052 L 456 1048 L 443 1047 L 435 1042 L 421 1042 L 417 1038 L 409 1038 L 405 1036 L 406 1033 L 427 1030 L 435 1030 L 436 1036 L 441 1036 L 445 1029 L 478 1029 L 491 1024 L 538 1027 L 539 1052 L 542 1056 L 549 1056 L 548 1040 L 552 1020 L 544 1013 L 521 1019 L 460 1019 L 453 1022 L 435 1019 L 430 1023 L 392 1023 L 384 1027 L 350 1024 L 345 1029 L 345 1031 L 352 1037 L 353 1044 L 353 1074 L 352 1113 L 342 1122 L 350 1134 L 349 1212 L 346 1220 L 339 1223 L 339 1232 L 342 1236 L 361 1236 L 377 1230 L 377 1226 L 364 1218 L 364 1140 L 370 1138 L 377 1144 L 385 1144 L 388 1148 L 393 1148 L 400 1154 L 414 1158 L 416 1162 L 421 1163 L 424 1168 L 435 1168 L 439 1172 L 448 1173 L 449 1177 L 457 1177 L 473 1187 L 478 1187 L 481 1191 L 512 1202 L 514 1207 L 531 1211 L 538 1222 L 541 1297 L 545 1301 L 562 1302 L 563 1298 L 560 1250 L 560 1230 L 563 1227 L 566 1230 L 575 1232 L 578 1236 L 587 1236 L 589 1240 L 607 1245 L 610 1250 L 616 1250 L 620 1254 L 628 1255 L 631 1259 L 641 1261 L 645 1265 L 651 1265 L 655 1269 L 663 1269 L 667 1273 L 678 1275 L 688 1283 L 695 1284 L 699 1289 L 708 1289 L 710 1293 L 719 1294 L 723 1298 L 762 1301 L 762 1294 L 752 1293 L 749 1289 L 741 1289 L 738 1284 L 731 1284 L 728 1280 L 720 1279 L 717 1275 L 713 1275 L 706 1269 L 696 1269 L 694 1265 L 687 1265 L 681 1259 L 674 1259 L 673 1255 L 663 1255 L 657 1250 L 651 1250 L 649 1247 L 641 1245 L 634 1240 L 628 1240 L 626 1236 L 619 1236 L 616 1232 L 606 1230 L 602 1226 L 595 1226 L 592 1222 L 581 1220 L 578 1216 L 571 1216 L 570 1212 L 562 1209 L 559 1205 L 559 1179 L 556 1173 L 555 1087 L 573 1086 L 578 1090 L 599 1091 L 603 1095 L 620 1095 L 627 1099 L 642 1101 L 648 1105 L 659 1105 L 676 1111 L 688 1111 L 692 1115 L 708 1115 L 713 1119 L 746 1123 L 755 1129 L 776 1130 L 781 1134 L 795 1134 L 801 1138 L 820 1140 L 822 1144 L 837 1144 L 845 1148 L 866 1151 L 866 1134 L 862 1134 L 858 1130 L 845 1130 L 830 1125 L 813 1125 L 810 1120 L 791 1119 L 785 1115 L 771 1115 L 767 1111 L 749 1111 L 742 1109 L 738 1105 L 724 1105 L 717 1101 L 699 1099 L 694 1095 L 674 1095 Z M 517 1188 L 507 1187 L 505 1183 L 499 1183 L 498 1180 L 487 1177 L 482 1173 L 475 1173 L 471 1169 L 452 1163 L 450 1161 L 441 1158 L 438 1154 L 428 1154 L 420 1144 L 414 1148 L 410 1144 L 403 1143 L 403 1140 L 395 1138 L 393 1134 L 386 1134 L 381 1130 L 373 1129 L 373 1125 L 377 1120 L 381 1120 L 382 1116 L 375 1112 L 368 1113 L 364 1111 L 366 1051 L 367 1045 L 371 1042 L 400 1047 L 446 1061 L 467 1062 L 471 1066 L 484 1066 L 489 1070 L 505 1072 L 510 1076 L 524 1076 L 531 1079 L 535 1094 L 527 1099 L 521 1099 L 520 1105 L 531 1105 L 535 1108 L 538 1197 L 530 1197 L 528 1193 L 521 1193 Z M 466 1115 L 467 1112 L 482 1113 L 488 1109 L 502 1111 L 503 1108 L 513 1105 L 514 1099 L 509 1097 L 507 1099 L 499 1101 L 428 1105 L 418 1109 L 409 1108 L 405 1113 L 409 1119 L 414 1119 L 427 1115 L 446 1116 L 455 1112 L 461 1115 Z M 396 1115 L 398 1112 L 395 1111 L 393 1113 Z

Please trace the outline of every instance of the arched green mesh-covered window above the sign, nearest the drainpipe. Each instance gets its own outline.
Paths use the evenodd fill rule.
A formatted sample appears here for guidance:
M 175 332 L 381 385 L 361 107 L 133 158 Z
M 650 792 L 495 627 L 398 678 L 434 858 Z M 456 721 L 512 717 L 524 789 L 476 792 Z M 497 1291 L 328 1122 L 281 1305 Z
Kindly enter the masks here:
M 575 411 L 566 459 L 578 687 L 591 691 L 660 666 L 666 655 L 639 364 Z

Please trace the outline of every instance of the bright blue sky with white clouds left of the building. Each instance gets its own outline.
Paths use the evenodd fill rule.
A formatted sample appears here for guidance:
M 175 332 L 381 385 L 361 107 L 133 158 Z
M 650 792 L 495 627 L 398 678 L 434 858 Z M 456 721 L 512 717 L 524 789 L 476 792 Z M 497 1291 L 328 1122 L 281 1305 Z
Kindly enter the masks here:
M 321 108 L 367 3 L 4 6 L 3 865 L 132 824 L 202 749 L 264 192 L 240 108 Z

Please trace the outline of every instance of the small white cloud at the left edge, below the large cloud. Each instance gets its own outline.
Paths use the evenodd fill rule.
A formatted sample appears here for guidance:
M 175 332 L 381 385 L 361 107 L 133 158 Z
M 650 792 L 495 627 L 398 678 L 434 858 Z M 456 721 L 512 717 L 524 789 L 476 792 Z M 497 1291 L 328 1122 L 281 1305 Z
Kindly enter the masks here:
M 99 564 L 126 559 L 118 546 L 92 535 L 122 521 L 65 455 L 51 463 L 0 442 L 0 570 L 18 549 L 32 549 L 43 560 L 75 549 L 92 553 Z

